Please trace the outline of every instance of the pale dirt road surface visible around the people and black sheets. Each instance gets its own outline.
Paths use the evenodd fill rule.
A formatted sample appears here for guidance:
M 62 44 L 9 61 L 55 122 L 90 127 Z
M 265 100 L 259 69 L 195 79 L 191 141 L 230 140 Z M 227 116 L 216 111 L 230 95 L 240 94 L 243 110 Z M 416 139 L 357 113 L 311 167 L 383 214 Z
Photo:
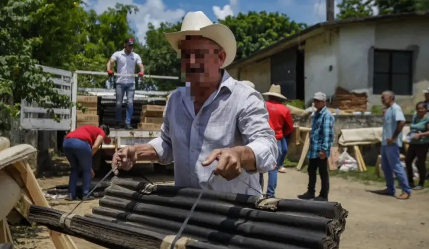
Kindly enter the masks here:
M 41 180 L 43 187 L 64 184 L 64 180 Z M 157 181 L 162 179 L 158 177 Z M 168 180 L 171 180 L 168 179 Z M 319 179 L 318 179 L 319 180 Z M 265 179 L 265 183 L 267 179 Z M 296 198 L 305 192 L 307 175 L 289 170 L 280 174 L 276 195 L 280 198 Z M 429 191 L 415 192 L 407 201 L 392 197 L 377 196 L 367 190 L 382 188 L 383 185 L 364 185 L 340 177 L 331 178 L 330 201 L 340 202 L 349 211 L 346 231 L 341 238 L 341 249 L 424 249 L 429 248 Z M 266 188 L 266 187 L 265 187 Z M 400 190 L 399 190 L 400 191 Z M 70 210 L 75 204 L 64 202 L 56 209 Z M 98 201 L 81 205 L 77 213 L 91 213 Z M 15 238 L 28 237 L 30 231 L 21 235 L 13 229 Z M 12 232 L 13 233 L 13 232 Z M 39 232 L 33 238 L 18 239 L 16 248 L 54 249 L 46 232 Z M 75 239 L 79 249 L 101 249 L 83 240 Z

